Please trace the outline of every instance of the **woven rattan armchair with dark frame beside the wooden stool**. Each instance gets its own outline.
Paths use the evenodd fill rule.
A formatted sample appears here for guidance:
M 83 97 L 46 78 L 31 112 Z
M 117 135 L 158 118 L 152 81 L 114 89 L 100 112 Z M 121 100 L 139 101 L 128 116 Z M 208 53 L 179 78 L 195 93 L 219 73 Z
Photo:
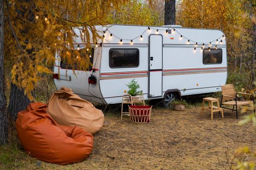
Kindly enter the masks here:
M 234 107 L 236 106 L 237 119 L 238 119 L 238 106 L 249 105 L 250 107 L 254 107 L 254 95 L 253 94 L 241 93 L 241 92 L 236 93 L 236 90 L 233 85 L 222 85 L 221 89 L 222 89 L 222 96 L 221 96 L 221 101 L 220 101 L 220 107 L 234 111 Z M 238 101 L 238 99 L 237 99 L 238 94 L 251 95 L 253 100 L 252 101 Z M 233 105 L 233 109 L 223 107 L 221 105 Z M 254 113 L 255 113 L 255 108 L 254 108 Z

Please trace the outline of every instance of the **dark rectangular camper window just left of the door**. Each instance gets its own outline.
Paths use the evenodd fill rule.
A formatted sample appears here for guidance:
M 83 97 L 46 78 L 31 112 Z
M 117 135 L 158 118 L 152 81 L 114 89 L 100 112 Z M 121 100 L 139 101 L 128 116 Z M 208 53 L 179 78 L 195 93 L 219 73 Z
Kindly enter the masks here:
M 139 49 L 110 49 L 110 68 L 139 66 Z

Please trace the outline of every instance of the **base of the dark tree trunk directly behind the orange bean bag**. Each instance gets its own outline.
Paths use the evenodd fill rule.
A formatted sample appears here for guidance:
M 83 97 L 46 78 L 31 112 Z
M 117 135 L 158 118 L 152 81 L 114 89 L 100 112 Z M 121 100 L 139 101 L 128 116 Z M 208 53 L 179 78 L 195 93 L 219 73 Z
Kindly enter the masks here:
M 30 103 L 29 98 L 24 94 L 23 89 L 19 89 L 17 85 L 11 85 L 10 102 L 8 105 L 8 112 L 11 120 L 17 119 L 19 111 L 24 110 Z

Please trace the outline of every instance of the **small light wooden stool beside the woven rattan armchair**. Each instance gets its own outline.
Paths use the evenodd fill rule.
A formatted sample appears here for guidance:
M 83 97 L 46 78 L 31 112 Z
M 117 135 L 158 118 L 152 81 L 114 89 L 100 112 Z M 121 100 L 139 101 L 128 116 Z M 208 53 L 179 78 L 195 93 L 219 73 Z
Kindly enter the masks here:
M 208 102 L 209 107 L 204 107 L 204 102 Z M 218 107 L 214 106 L 213 102 L 217 102 Z M 221 111 L 222 118 L 224 118 L 223 110 L 222 110 L 222 108 L 219 107 L 219 99 L 211 98 L 211 97 L 203 98 L 202 99 L 202 112 L 204 109 L 211 110 L 211 119 L 213 119 L 213 112 L 218 112 L 218 111 Z M 201 112 L 201 117 L 202 117 L 202 112 Z

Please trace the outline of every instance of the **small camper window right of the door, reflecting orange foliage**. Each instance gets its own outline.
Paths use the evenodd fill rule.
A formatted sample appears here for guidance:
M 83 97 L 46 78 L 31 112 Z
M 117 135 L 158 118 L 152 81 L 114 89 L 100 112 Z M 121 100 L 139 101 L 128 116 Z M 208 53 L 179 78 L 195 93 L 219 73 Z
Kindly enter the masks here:
M 203 64 L 221 64 L 222 63 L 222 50 L 221 49 L 203 49 L 202 52 Z

